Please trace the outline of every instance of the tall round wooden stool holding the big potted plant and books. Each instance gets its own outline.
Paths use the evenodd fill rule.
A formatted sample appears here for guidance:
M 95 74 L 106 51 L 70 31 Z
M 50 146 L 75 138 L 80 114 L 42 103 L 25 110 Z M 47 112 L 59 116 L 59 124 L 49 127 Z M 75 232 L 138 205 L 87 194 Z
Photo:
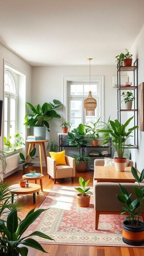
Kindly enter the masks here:
M 31 151 L 31 147 L 32 149 L 35 147 L 35 144 L 39 144 L 39 157 L 40 157 L 40 169 L 41 169 L 41 174 L 43 174 L 43 165 L 42 165 L 42 146 L 43 146 L 43 151 L 44 151 L 44 157 L 45 157 L 45 163 L 46 163 L 46 169 L 47 169 L 47 161 L 46 161 L 46 150 L 45 150 L 45 142 L 47 142 L 49 140 L 39 140 L 39 141 L 30 141 L 30 140 L 26 140 L 26 142 L 29 142 L 29 147 L 28 147 L 28 158 L 27 161 L 29 159 L 29 153 Z

